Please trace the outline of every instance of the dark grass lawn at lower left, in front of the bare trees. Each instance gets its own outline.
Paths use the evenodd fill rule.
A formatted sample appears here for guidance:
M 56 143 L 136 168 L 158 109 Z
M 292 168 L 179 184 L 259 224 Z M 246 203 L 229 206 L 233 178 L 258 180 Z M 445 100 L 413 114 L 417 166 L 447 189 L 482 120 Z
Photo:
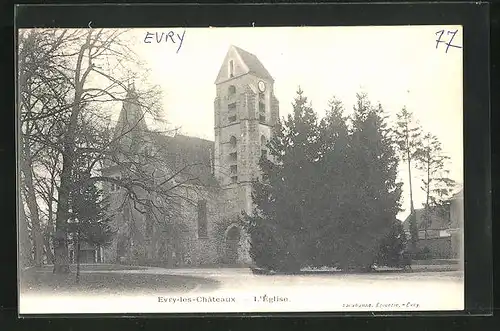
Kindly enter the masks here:
M 76 283 L 76 266 L 71 273 L 56 275 L 51 266 L 32 268 L 21 273 L 20 291 L 26 294 L 158 294 L 182 293 L 194 288 L 216 288 L 216 281 L 160 274 L 121 273 L 120 270 L 139 270 L 141 267 L 118 265 L 82 265 L 80 282 Z

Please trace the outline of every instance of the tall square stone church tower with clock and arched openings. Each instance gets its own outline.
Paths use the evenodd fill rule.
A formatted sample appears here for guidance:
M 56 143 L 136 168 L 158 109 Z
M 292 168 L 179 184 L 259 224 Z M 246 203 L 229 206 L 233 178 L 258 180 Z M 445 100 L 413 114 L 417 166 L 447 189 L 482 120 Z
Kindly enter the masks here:
M 279 118 L 274 79 L 255 55 L 230 46 L 215 85 L 214 174 L 226 215 L 251 213 L 251 181 Z

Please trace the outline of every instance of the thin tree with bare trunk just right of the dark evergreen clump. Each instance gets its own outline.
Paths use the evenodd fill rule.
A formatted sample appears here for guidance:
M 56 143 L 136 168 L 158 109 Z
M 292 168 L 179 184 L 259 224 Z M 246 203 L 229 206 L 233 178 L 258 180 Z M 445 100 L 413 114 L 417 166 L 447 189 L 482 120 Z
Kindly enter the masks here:
M 417 215 L 413 204 L 412 170 L 416 162 L 417 153 L 421 147 L 422 128 L 413 118 L 413 114 L 403 107 L 397 114 L 394 129 L 396 143 L 399 147 L 400 158 L 408 166 L 408 185 L 410 192 L 410 243 L 413 252 L 416 252 L 418 241 Z

